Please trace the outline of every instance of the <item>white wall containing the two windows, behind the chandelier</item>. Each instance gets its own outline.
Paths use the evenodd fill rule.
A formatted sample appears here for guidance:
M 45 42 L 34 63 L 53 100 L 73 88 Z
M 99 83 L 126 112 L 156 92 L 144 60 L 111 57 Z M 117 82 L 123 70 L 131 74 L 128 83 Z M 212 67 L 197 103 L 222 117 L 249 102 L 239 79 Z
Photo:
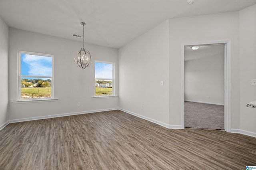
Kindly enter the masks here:
M 92 98 L 95 86 L 94 60 L 116 63 L 116 86 L 118 87 L 117 49 L 85 44 L 85 48 L 90 51 L 93 61 L 89 67 L 83 70 L 74 61 L 74 54 L 82 47 L 82 42 L 14 28 L 10 28 L 9 32 L 10 120 L 118 108 L 118 97 Z M 54 55 L 54 98 L 58 98 L 58 101 L 12 103 L 18 98 L 18 50 Z M 118 89 L 116 92 L 118 93 Z M 77 106 L 78 102 L 80 102 L 80 107 Z

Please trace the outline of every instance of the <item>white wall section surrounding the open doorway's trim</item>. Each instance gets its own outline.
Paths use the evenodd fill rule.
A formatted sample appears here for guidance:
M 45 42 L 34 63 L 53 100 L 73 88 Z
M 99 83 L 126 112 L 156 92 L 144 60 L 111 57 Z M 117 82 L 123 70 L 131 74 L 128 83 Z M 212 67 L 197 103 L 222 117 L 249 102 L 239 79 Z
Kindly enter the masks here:
M 239 12 L 169 20 L 170 124 L 182 125 L 181 44 L 231 40 L 231 128 L 239 128 Z

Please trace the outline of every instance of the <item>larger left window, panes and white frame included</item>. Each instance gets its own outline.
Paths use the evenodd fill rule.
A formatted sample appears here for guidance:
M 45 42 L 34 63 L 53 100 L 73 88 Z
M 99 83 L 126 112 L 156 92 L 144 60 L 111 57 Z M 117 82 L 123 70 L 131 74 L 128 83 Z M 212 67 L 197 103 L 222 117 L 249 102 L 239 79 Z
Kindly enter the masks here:
M 18 51 L 18 100 L 53 98 L 53 55 Z

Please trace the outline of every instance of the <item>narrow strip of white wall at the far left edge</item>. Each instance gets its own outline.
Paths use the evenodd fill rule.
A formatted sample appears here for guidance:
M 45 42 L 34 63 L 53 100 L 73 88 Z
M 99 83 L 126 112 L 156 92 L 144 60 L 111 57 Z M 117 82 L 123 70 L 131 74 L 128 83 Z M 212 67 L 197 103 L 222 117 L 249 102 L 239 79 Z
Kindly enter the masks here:
M 8 121 L 8 26 L 0 18 L 0 129 Z

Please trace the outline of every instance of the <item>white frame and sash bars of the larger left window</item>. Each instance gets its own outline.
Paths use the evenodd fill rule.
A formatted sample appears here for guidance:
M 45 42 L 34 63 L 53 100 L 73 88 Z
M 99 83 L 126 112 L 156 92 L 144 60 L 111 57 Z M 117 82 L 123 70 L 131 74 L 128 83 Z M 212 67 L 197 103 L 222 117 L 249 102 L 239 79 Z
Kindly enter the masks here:
M 40 76 L 40 75 L 21 75 L 21 55 L 28 54 L 28 55 L 38 55 L 43 57 L 52 57 L 52 76 Z M 44 54 L 44 53 L 35 53 L 35 52 L 28 52 L 28 51 L 18 51 L 18 101 L 46 101 L 54 99 L 54 55 L 52 54 Z M 52 95 L 51 97 L 42 97 L 42 98 L 31 98 L 31 99 L 22 99 L 21 98 L 21 79 L 22 77 L 31 77 L 31 78 L 49 78 L 51 79 L 51 87 L 52 87 Z

